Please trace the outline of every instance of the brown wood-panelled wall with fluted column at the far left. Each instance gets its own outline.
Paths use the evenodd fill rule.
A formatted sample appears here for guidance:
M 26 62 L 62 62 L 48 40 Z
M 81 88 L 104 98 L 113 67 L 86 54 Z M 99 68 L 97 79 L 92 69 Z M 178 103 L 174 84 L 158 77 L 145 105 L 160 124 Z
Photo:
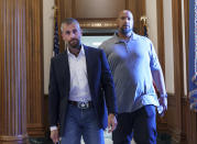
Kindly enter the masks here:
M 0 0 L 0 141 L 44 135 L 42 0 Z

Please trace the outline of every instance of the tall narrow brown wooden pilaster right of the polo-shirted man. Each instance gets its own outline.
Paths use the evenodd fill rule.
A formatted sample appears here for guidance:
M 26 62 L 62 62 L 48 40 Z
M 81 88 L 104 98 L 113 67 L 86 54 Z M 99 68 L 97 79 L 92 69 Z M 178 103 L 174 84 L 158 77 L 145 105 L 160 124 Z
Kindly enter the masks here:
M 169 106 L 171 114 L 168 118 L 169 131 L 173 134 L 175 142 L 182 142 L 183 120 L 182 120 L 182 98 L 184 96 L 184 67 L 183 67 L 183 29 L 182 29 L 182 1 L 172 1 L 172 18 L 173 18 L 173 52 L 174 52 L 174 78 L 175 78 L 175 95 L 172 106 Z

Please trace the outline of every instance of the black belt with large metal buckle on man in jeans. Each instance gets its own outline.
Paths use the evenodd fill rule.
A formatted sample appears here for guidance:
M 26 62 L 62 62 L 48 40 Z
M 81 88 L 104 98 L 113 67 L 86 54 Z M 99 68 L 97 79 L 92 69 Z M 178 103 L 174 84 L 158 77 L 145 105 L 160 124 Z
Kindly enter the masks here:
M 72 101 L 68 100 L 68 103 L 72 106 L 76 106 L 79 109 L 89 109 L 92 108 L 92 102 L 91 101 Z

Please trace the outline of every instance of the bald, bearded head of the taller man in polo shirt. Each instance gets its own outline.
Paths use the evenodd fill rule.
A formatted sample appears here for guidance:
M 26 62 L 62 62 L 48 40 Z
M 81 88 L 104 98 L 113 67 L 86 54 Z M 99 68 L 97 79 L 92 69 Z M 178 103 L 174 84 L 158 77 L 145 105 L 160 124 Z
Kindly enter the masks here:
M 133 30 L 133 14 L 129 10 L 122 10 L 118 15 L 118 30 L 119 34 L 130 36 Z

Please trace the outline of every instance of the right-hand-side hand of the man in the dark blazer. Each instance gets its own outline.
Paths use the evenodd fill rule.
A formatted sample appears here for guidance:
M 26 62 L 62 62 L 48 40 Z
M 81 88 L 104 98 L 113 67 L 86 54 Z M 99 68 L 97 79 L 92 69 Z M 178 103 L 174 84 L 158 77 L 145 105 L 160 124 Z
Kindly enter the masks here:
M 110 113 L 108 115 L 108 133 L 112 132 L 117 128 L 117 118 L 114 114 Z

